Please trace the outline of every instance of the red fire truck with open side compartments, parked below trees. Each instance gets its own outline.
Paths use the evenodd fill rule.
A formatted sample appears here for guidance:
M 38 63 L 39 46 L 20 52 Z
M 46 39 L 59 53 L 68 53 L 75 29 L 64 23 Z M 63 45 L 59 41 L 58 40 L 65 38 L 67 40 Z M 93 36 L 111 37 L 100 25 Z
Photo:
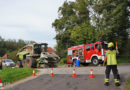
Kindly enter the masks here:
M 67 63 L 74 64 L 78 57 L 81 63 L 92 63 L 97 66 L 104 61 L 107 44 L 106 41 L 97 41 L 91 44 L 70 47 L 67 52 Z

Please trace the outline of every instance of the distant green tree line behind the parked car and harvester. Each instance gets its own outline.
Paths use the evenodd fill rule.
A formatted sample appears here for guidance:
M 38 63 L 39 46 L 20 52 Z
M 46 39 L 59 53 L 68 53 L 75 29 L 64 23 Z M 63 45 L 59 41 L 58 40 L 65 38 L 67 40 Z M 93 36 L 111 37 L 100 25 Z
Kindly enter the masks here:
M 34 43 L 34 41 L 24 41 L 19 39 L 16 40 L 4 40 L 2 37 L 0 37 L 0 56 L 2 57 L 5 54 L 9 55 L 9 58 L 14 60 L 15 62 L 18 60 L 16 57 L 16 54 L 19 49 L 24 47 L 26 44 Z

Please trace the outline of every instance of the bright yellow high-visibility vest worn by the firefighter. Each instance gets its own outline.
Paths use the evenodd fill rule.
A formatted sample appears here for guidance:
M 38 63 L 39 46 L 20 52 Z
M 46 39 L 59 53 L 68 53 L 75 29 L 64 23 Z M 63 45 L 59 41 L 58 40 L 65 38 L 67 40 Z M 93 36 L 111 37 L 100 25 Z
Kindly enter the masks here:
M 108 50 L 107 52 L 107 65 L 117 65 L 116 50 Z

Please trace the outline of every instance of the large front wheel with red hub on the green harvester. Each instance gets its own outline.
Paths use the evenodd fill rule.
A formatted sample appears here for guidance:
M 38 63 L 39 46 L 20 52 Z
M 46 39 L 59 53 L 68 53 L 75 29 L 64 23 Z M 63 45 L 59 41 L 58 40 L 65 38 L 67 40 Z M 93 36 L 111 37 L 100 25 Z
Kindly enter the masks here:
M 36 60 L 33 57 L 27 57 L 25 60 L 25 66 L 29 68 L 36 68 Z

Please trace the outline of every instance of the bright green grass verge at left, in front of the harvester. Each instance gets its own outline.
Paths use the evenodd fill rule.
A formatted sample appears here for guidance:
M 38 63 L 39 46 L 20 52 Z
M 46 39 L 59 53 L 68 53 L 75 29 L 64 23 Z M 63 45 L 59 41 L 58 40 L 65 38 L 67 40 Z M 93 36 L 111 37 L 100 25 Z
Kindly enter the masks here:
M 12 83 L 32 75 L 32 68 L 3 68 L 0 70 L 2 83 Z

